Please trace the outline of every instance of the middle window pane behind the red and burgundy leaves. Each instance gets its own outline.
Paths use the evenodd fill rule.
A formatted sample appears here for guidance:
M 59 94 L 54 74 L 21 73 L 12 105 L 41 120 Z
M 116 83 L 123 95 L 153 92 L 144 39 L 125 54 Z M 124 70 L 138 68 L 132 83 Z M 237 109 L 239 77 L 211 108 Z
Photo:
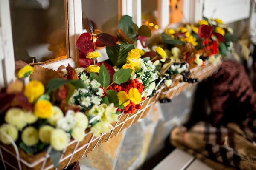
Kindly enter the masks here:
M 108 33 L 116 36 L 121 15 L 120 0 L 82 0 L 83 29 L 88 29 L 86 17 L 95 26 L 95 33 Z

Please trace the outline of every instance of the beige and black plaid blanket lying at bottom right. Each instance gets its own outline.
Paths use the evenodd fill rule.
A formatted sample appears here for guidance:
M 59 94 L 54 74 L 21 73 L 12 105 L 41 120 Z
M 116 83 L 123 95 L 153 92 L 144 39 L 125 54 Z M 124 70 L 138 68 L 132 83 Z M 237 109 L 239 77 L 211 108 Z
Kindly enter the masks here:
M 256 120 L 241 125 L 228 123 L 213 127 L 198 122 L 189 130 L 175 127 L 171 132 L 173 146 L 194 155 L 215 170 L 256 170 Z

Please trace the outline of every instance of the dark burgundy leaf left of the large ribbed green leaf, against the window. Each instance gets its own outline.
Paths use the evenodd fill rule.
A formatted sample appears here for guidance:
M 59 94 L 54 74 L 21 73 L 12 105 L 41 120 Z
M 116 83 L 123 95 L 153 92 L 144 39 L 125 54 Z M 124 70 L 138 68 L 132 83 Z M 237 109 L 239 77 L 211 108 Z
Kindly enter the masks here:
M 97 47 L 105 47 L 105 46 L 114 46 L 116 45 L 116 40 L 114 39 L 113 36 L 106 34 L 106 33 L 101 33 L 97 35 L 97 40 L 95 42 L 95 45 Z

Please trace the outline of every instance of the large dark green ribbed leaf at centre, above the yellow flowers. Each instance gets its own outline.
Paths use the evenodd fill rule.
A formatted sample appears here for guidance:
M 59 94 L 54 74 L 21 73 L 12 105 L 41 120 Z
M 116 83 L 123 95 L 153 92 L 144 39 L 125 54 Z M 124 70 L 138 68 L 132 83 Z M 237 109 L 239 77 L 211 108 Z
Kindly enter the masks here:
M 135 49 L 132 44 L 116 44 L 115 46 L 107 46 L 106 52 L 113 65 L 121 67 L 125 64 L 128 52 L 132 49 Z

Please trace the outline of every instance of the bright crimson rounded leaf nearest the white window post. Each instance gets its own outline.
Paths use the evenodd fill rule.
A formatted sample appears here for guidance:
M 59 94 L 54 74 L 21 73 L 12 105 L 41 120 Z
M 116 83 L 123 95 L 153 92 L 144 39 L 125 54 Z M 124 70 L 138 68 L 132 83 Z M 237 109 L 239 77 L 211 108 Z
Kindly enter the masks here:
M 93 44 L 91 41 L 91 35 L 87 32 L 81 34 L 78 40 L 76 41 L 76 48 L 84 52 L 90 50 L 92 46 Z

